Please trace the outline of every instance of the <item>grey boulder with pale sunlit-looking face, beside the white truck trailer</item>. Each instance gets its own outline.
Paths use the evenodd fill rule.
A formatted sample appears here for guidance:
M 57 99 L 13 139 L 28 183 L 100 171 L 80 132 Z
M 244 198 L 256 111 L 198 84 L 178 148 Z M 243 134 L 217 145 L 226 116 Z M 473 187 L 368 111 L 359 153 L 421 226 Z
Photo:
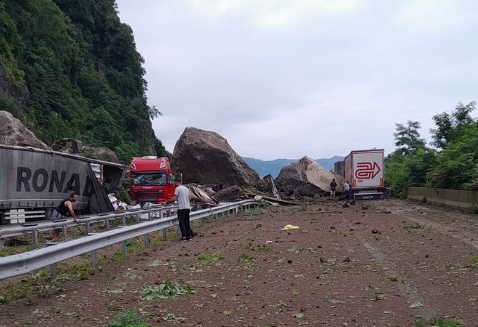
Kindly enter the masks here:
M 304 157 L 299 162 L 292 162 L 280 169 L 276 186 L 279 191 L 288 194 L 314 196 L 329 192 L 332 179 L 339 185 L 343 177 L 325 169 L 315 160 Z M 341 190 L 339 186 L 337 191 Z

